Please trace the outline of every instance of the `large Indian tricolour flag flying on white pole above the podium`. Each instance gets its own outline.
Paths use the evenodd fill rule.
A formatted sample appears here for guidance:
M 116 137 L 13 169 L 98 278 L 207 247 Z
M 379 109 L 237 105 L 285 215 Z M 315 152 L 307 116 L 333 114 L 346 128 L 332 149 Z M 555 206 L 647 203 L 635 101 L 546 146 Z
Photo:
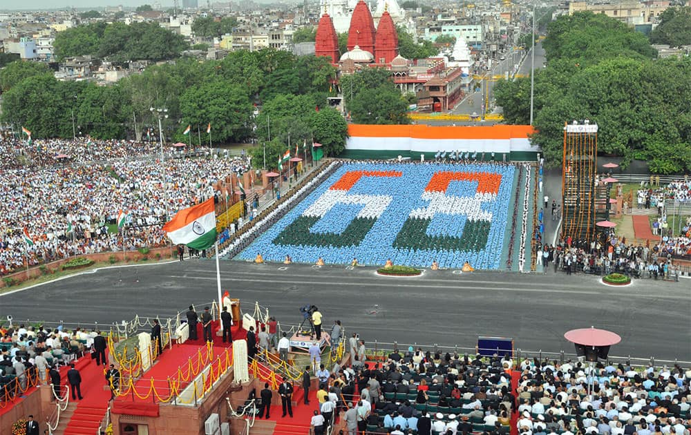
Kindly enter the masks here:
M 192 249 L 208 249 L 216 242 L 216 213 L 214 197 L 189 209 L 178 211 L 163 231 L 175 244 L 186 244 Z

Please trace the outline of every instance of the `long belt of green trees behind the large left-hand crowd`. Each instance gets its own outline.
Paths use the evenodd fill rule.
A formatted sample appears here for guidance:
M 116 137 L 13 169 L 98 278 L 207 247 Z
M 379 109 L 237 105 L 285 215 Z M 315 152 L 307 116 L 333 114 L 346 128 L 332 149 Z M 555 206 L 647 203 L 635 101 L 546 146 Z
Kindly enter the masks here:
M 167 140 L 198 144 L 199 135 L 187 137 L 182 131 L 188 125 L 193 132 L 206 131 L 210 123 L 214 143 L 261 143 L 269 142 L 268 115 L 276 150 L 285 152 L 290 134 L 293 147 L 314 137 L 334 155 L 345 146 L 347 133 L 345 118 L 328 106 L 335 75 L 324 57 L 268 48 L 237 50 L 220 61 L 180 58 L 111 86 L 57 81 L 45 64 L 15 61 L 0 70 L 0 121 L 26 126 L 35 138 L 72 137 L 74 113 L 77 135 L 141 137 L 149 129 L 158 131 L 150 108 L 166 108 L 162 127 Z M 201 136 L 206 146 L 208 137 Z

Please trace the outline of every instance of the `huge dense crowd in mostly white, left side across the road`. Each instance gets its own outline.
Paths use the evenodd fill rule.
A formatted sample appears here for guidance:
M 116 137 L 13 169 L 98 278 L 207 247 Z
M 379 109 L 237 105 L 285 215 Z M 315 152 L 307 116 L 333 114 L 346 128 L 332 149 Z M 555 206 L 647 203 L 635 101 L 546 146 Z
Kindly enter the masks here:
M 0 275 L 27 262 L 164 244 L 166 212 L 172 215 L 214 195 L 216 182 L 248 169 L 240 158 L 161 164 L 153 157 L 1 171 Z M 115 223 L 120 210 L 128 215 L 126 231 L 113 233 L 107 224 Z M 25 228 L 32 245 L 23 239 Z

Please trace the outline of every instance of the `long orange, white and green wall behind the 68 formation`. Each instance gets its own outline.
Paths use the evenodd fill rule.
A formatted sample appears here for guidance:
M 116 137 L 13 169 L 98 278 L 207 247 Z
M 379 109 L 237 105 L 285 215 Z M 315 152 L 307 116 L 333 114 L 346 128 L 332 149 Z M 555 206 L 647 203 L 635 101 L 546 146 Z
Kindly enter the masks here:
M 349 124 L 345 151 L 350 159 L 410 157 L 433 160 L 438 151 L 478 153 L 477 160 L 537 160 L 540 148 L 531 143 L 532 126 L 428 126 Z M 481 154 L 485 153 L 484 156 Z

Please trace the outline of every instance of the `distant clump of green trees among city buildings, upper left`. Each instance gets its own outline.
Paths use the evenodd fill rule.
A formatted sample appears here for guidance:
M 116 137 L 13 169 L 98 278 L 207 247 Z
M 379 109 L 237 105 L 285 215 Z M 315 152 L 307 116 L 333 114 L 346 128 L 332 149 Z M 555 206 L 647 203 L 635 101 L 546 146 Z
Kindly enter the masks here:
M 53 42 L 58 59 L 93 55 L 115 64 L 174 59 L 188 46 L 182 35 L 176 35 L 157 23 L 127 25 L 120 21 L 69 28 L 57 32 Z

